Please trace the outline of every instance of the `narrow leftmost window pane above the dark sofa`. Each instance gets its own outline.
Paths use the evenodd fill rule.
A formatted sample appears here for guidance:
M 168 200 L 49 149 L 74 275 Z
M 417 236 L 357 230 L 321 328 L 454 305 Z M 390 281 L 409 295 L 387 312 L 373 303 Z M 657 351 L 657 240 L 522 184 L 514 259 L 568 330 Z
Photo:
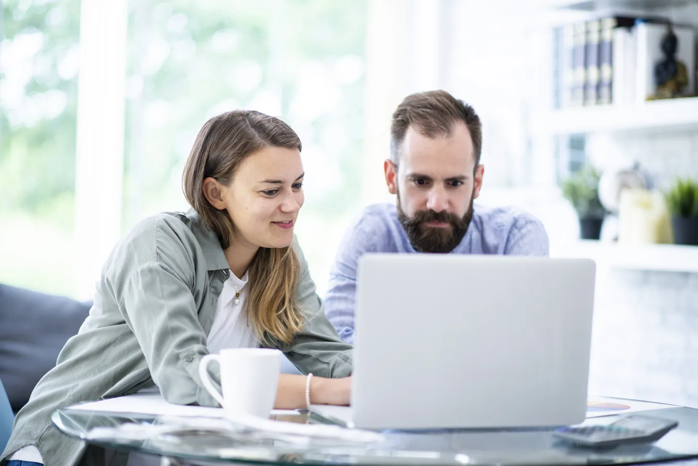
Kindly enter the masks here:
M 1 8 L 0 283 L 72 294 L 80 1 Z

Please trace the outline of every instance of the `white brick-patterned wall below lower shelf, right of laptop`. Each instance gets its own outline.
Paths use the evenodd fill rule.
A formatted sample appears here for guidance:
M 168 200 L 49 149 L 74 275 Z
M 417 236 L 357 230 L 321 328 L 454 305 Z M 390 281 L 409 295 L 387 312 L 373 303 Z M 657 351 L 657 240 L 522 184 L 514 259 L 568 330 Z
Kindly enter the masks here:
M 698 273 L 599 271 L 590 391 L 698 406 Z

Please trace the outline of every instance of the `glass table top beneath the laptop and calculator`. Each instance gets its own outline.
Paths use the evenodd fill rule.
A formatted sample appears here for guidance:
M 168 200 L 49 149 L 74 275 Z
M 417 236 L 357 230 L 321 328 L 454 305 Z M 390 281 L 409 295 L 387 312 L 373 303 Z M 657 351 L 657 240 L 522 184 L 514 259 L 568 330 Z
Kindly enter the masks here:
M 265 435 L 222 418 L 191 418 L 59 409 L 54 425 L 92 444 L 177 458 L 186 463 L 275 465 L 616 465 L 671 462 L 698 466 L 698 409 L 642 412 L 674 419 L 678 428 L 653 444 L 586 449 L 555 439 L 553 428 L 486 430 L 383 430 L 371 441 L 302 435 Z M 590 418 L 605 424 L 618 416 Z M 318 423 L 313 416 L 276 416 L 277 421 Z M 685 460 L 686 458 L 696 458 Z M 681 461 L 679 461 L 681 460 Z

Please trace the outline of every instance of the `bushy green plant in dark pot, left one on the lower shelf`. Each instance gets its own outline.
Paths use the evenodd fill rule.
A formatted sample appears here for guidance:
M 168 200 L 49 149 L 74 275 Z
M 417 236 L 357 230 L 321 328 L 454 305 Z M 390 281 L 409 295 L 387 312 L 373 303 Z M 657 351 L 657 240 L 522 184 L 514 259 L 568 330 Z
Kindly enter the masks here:
M 563 196 L 572 203 L 579 217 L 579 231 L 583 240 L 598 240 L 606 210 L 599 201 L 599 173 L 586 165 L 562 184 Z

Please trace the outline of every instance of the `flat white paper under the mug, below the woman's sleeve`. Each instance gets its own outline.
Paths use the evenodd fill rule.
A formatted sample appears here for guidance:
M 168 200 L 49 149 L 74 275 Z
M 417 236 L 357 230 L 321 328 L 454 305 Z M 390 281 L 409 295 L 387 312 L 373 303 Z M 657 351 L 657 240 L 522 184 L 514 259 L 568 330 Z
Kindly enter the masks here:
M 70 406 L 70 409 L 90 409 L 112 413 L 154 414 L 159 416 L 206 416 L 223 417 L 222 408 L 203 406 L 173 405 L 168 403 L 160 393 L 134 393 L 133 395 L 105 400 L 91 401 Z M 297 416 L 295 409 L 272 409 L 272 415 Z

